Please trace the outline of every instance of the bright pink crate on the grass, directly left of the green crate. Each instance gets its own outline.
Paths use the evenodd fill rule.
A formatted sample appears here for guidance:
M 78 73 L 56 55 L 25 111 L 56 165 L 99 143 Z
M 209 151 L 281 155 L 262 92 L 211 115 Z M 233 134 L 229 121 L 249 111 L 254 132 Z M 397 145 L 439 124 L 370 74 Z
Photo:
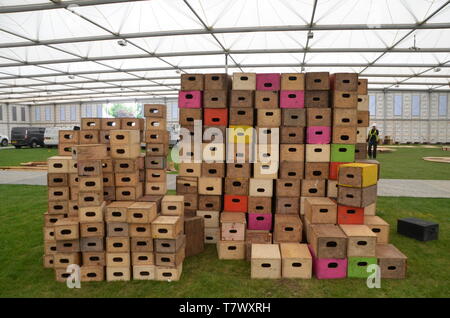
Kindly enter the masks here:
M 347 277 L 346 258 L 316 258 L 311 245 L 309 251 L 313 258 L 313 273 L 317 279 L 337 279 Z

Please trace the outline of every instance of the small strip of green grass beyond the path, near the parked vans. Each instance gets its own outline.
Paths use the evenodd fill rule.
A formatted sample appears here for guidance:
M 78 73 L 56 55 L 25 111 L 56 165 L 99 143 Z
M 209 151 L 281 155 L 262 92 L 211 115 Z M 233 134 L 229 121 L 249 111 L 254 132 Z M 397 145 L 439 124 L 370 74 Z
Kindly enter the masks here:
M 48 157 L 57 154 L 57 148 L 2 149 L 0 150 L 0 167 L 20 166 L 20 163 L 29 161 L 47 161 Z

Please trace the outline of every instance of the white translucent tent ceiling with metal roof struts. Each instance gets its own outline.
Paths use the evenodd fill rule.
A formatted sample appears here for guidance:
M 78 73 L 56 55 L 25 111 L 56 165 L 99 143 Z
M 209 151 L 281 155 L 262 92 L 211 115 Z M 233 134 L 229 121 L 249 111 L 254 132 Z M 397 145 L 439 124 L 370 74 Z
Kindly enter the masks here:
M 0 0 L 0 103 L 175 96 L 226 63 L 448 90 L 450 1 Z

